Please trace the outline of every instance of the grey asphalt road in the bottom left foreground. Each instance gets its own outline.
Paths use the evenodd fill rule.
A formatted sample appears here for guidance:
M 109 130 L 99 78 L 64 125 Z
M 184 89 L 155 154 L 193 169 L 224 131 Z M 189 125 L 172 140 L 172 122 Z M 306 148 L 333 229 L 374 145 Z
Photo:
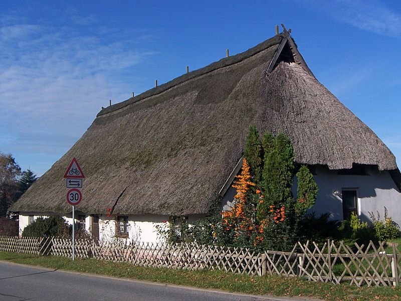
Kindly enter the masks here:
M 0 300 L 284 300 L 66 272 L 0 261 Z M 294 299 L 293 299 L 294 300 Z

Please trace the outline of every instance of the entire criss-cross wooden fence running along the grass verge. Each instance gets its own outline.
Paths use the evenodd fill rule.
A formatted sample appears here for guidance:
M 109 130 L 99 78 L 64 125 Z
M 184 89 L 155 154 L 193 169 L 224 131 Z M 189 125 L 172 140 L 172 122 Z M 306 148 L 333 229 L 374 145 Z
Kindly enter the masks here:
M 388 249 L 388 248 L 387 248 Z M 41 255 L 72 256 L 71 239 L 18 238 L 0 236 L 0 251 Z M 191 244 L 113 243 L 76 240 L 75 256 L 137 266 L 166 267 L 185 270 L 224 270 L 226 272 L 287 277 L 311 281 L 349 283 L 356 286 L 398 285 L 401 253 L 395 245 L 385 252 L 384 244 L 352 248 L 343 242 L 298 242 L 291 252 L 257 253 L 248 248 Z

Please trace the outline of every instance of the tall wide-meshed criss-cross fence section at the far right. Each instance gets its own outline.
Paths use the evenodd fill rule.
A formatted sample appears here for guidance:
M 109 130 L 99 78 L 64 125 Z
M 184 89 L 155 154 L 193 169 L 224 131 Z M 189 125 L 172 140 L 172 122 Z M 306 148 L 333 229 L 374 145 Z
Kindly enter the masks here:
M 398 285 L 401 272 L 401 254 L 392 244 L 390 254 L 379 242 L 367 246 L 355 244 L 355 251 L 343 242 L 328 241 L 319 247 L 316 243 L 298 243 L 298 276 L 312 281 L 341 283 L 349 281 L 356 286 Z

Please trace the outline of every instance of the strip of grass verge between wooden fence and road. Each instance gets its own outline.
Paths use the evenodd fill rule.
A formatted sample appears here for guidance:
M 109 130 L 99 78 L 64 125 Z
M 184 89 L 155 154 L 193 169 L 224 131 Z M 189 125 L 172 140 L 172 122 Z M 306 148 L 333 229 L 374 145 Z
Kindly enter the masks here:
M 221 289 L 250 294 L 308 296 L 323 300 L 398 300 L 401 287 L 362 287 L 310 282 L 279 276 L 251 277 L 222 271 L 185 271 L 134 266 L 129 263 L 0 252 L 0 260 L 137 280 Z

